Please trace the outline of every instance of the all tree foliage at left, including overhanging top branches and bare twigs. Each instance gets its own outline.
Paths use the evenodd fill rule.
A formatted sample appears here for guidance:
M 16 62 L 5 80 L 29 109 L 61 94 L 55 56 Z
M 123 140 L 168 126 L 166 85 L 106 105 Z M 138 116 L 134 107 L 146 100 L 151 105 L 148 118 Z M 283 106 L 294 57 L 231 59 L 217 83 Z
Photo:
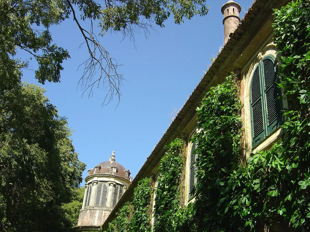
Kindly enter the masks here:
M 62 62 L 70 56 L 52 43 L 49 28 L 73 17 L 90 54 L 80 83 L 90 89 L 108 84 L 111 101 L 114 94 L 120 97 L 123 77 L 97 40 L 93 23 L 101 36 L 111 30 L 133 38 L 153 24 L 163 27 L 170 14 L 177 24 L 183 17 L 206 15 L 204 2 L 0 0 L 0 231 L 64 231 L 74 225 L 78 206 L 70 208 L 70 202 L 79 199 L 76 190 L 85 169 L 69 139 L 66 118 L 58 115 L 43 88 L 20 82 L 28 61 L 18 57 L 19 51 L 38 63 L 39 83 L 59 82 Z M 91 28 L 82 28 L 79 20 Z

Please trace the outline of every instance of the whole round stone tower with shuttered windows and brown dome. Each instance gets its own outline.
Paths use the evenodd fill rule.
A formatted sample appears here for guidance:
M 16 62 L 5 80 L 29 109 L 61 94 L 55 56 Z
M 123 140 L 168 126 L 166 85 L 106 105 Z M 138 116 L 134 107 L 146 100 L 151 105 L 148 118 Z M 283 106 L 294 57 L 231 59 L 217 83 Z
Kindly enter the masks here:
M 109 161 L 88 170 L 85 193 L 79 214 L 77 231 L 98 231 L 118 200 L 131 183 L 130 171 L 115 162 L 115 152 Z

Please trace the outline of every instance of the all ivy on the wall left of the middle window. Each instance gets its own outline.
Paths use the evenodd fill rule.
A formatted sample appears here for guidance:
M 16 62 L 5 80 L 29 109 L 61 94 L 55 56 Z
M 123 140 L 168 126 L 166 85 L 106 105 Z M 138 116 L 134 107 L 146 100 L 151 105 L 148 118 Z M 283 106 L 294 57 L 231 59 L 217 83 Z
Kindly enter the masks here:
M 175 139 L 165 148 L 159 166 L 158 184 L 155 190 L 153 231 L 189 231 L 188 219 L 192 205 L 184 208 L 184 147 L 182 139 Z M 184 176 L 183 176 L 184 178 Z M 109 223 L 106 232 L 150 232 L 153 180 L 144 178 L 135 188 L 131 202 L 127 202 Z

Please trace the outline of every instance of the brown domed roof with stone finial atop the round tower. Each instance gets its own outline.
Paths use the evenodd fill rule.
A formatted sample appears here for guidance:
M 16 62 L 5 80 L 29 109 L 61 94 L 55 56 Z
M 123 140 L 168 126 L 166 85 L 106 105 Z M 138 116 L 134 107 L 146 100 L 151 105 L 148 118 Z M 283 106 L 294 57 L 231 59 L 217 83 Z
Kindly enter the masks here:
M 125 169 L 125 167 L 117 162 L 115 162 L 115 152 L 111 154 L 109 161 L 103 161 L 97 164 L 93 169 L 88 170 L 88 175 L 92 174 L 110 174 L 115 176 L 120 176 L 127 180 L 131 179 L 130 171 Z

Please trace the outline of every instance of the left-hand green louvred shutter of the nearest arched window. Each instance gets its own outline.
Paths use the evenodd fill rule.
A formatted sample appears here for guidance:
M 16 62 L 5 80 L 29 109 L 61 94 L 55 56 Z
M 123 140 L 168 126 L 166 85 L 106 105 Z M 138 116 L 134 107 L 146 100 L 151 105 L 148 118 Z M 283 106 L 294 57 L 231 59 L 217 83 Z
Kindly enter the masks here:
M 259 66 L 256 67 L 251 83 L 250 93 L 251 121 L 252 121 L 252 144 L 253 147 L 263 140 L 265 136 L 262 88 L 259 75 Z

